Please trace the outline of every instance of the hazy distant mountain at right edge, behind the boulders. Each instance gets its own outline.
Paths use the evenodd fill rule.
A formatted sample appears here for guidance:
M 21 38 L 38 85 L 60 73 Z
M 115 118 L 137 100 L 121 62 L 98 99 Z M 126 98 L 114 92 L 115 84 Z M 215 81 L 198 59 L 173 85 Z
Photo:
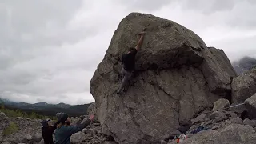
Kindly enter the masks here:
M 233 62 L 232 65 L 234 67 L 234 70 L 239 75 L 247 70 L 251 70 L 252 68 L 256 67 L 256 59 L 246 56 L 244 58 L 241 58 L 238 62 Z

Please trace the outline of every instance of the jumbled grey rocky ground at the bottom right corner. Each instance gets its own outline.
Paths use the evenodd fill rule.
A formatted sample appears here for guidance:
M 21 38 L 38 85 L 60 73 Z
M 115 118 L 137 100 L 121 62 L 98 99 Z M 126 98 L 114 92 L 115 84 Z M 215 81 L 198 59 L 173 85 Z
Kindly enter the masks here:
M 213 111 L 204 111 L 191 120 L 192 126 L 185 132 L 187 139 L 181 144 L 256 143 L 256 120 L 248 118 L 250 117 L 248 111 L 256 112 L 255 100 L 256 94 L 246 100 L 246 105 L 230 109 L 228 108 L 230 103 L 226 99 L 219 99 L 214 102 Z M 223 108 L 228 109 L 223 110 Z M 238 109 L 242 111 L 242 114 L 235 112 Z M 167 139 L 164 143 L 167 142 L 169 144 L 177 143 L 177 138 Z

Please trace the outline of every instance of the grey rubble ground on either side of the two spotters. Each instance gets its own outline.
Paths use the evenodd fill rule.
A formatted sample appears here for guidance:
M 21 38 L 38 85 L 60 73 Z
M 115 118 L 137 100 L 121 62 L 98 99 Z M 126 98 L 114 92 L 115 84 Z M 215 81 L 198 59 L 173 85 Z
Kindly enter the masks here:
M 81 118 L 70 118 L 71 125 L 81 122 L 82 118 L 88 116 L 82 116 Z M 3 144 L 43 144 L 42 130 L 40 119 L 27 119 L 27 118 L 8 118 L 5 114 L 0 114 L 0 143 Z M 3 135 L 3 131 L 6 130 L 10 123 L 15 123 L 17 130 L 13 128 L 12 134 Z M 115 142 L 109 141 L 110 137 L 107 137 L 101 132 L 100 124 L 95 121 L 83 129 L 81 132 L 73 134 L 70 138 L 70 143 L 78 144 L 114 144 Z

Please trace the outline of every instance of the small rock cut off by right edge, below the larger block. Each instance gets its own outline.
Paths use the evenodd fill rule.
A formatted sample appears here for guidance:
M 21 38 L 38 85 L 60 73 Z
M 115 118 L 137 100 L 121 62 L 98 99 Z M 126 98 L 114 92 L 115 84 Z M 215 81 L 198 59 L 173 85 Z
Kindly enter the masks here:
M 248 118 L 256 119 L 256 94 L 246 99 L 246 111 Z

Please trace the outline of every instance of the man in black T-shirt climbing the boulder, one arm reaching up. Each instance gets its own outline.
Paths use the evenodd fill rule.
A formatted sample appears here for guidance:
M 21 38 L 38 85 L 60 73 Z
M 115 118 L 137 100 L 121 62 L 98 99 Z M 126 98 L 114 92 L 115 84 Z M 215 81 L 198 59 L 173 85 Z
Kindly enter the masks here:
M 117 91 L 118 94 L 120 94 L 123 89 L 123 91 L 126 92 L 128 82 L 130 81 L 134 74 L 135 56 L 137 54 L 137 51 L 140 50 L 140 48 L 142 47 L 144 34 L 145 31 L 142 31 L 141 37 L 139 38 L 138 44 L 135 48 L 131 47 L 127 54 L 122 54 L 122 83 Z

